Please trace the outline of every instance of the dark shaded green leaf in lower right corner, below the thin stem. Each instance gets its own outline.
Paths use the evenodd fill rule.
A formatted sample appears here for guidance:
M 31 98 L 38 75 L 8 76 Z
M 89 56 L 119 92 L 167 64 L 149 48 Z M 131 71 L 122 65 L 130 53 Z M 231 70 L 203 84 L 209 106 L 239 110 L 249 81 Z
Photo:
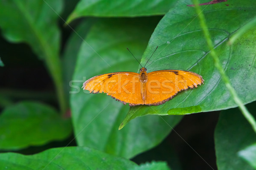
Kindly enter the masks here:
M 247 108 L 255 117 L 255 102 Z M 253 170 L 237 153 L 255 142 L 256 135 L 238 108 L 222 111 L 215 129 L 218 170 Z

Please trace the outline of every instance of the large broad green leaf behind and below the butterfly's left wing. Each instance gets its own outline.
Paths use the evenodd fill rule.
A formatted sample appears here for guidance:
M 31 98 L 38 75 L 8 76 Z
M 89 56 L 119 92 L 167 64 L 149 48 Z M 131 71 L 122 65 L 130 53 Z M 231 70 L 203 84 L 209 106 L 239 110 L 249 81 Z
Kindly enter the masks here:
M 91 28 L 79 52 L 71 94 L 71 109 L 79 146 L 94 147 L 114 155 L 131 158 L 159 144 L 182 116 L 148 116 L 134 120 L 118 130 L 128 105 L 106 94 L 79 91 L 93 76 L 116 71 L 137 71 L 138 58 L 146 47 L 157 18 L 99 20 Z M 88 44 L 90 46 L 88 46 Z M 111 67 L 110 67 L 111 66 Z M 84 77 L 84 79 L 83 79 Z M 79 135 L 78 135 L 79 134 Z

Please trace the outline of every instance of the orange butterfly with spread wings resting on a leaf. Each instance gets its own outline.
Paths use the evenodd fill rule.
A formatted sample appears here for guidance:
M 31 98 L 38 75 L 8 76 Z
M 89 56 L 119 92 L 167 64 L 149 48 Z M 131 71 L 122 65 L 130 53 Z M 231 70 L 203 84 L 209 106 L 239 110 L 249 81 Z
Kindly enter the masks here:
M 197 87 L 201 83 L 204 83 L 204 79 L 191 71 L 160 70 L 147 73 L 144 66 L 140 74 L 116 72 L 92 77 L 84 82 L 82 88 L 93 94 L 106 93 L 130 106 L 161 105 L 179 91 Z

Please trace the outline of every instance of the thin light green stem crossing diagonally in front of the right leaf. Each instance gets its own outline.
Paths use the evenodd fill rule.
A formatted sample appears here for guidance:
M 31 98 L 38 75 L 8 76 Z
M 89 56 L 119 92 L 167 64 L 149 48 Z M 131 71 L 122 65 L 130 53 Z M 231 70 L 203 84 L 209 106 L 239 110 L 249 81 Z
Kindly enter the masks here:
M 239 99 L 239 96 L 236 94 L 235 89 L 232 87 L 232 85 L 230 83 L 230 79 L 225 74 L 225 71 L 224 71 L 224 69 L 222 68 L 222 66 L 220 64 L 219 58 L 218 58 L 217 54 L 215 53 L 214 46 L 212 44 L 212 40 L 211 40 L 209 31 L 208 31 L 208 28 L 207 28 L 207 25 L 206 25 L 206 22 L 205 22 L 204 14 L 202 13 L 202 11 L 201 11 L 201 9 L 198 5 L 198 0 L 194 0 L 194 4 L 195 4 L 195 9 L 196 9 L 196 12 L 198 14 L 198 17 L 200 19 L 201 27 L 204 31 L 204 37 L 206 38 L 207 44 L 208 44 L 209 49 L 210 49 L 210 54 L 211 54 L 211 56 L 214 60 L 214 65 L 218 69 L 218 71 L 220 72 L 221 78 L 223 79 L 227 89 L 230 91 L 230 94 L 233 97 L 234 101 L 239 106 L 239 109 L 243 113 L 244 117 L 247 119 L 247 121 L 250 123 L 250 125 L 253 127 L 253 130 L 256 133 L 256 121 L 255 121 L 254 117 L 250 114 L 250 112 L 244 106 L 243 102 Z

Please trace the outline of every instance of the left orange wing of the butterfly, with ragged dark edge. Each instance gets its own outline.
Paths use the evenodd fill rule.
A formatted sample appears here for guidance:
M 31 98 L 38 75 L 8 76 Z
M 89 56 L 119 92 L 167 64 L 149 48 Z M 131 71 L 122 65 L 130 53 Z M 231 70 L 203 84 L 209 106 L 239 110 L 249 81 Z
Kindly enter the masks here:
M 102 74 L 88 79 L 83 88 L 90 93 L 106 93 L 131 106 L 143 104 L 139 74 L 134 72 Z

